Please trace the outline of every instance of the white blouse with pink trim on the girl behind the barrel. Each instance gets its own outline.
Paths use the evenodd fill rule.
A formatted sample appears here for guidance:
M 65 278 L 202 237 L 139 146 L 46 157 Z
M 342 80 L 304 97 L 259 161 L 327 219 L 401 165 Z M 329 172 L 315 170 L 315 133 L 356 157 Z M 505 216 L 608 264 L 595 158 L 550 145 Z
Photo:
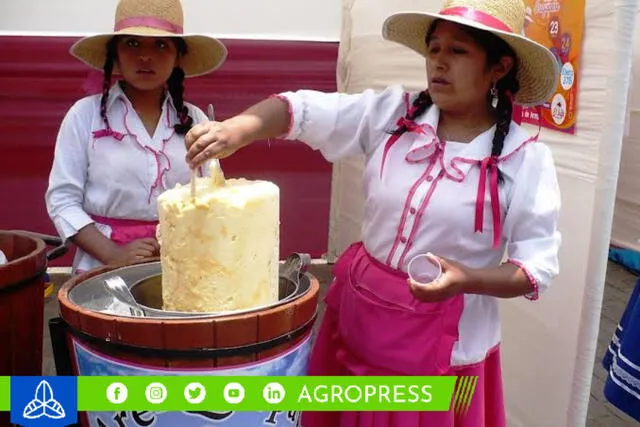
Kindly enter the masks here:
M 45 201 L 64 239 L 91 223 L 110 237 L 111 228 L 96 223 L 92 216 L 157 221 L 157 196 L 191 178 L 184 137 L 173 128 L 178 118 L 170 96 L 162 104 L 153 136 L 118 84 L 111 88 L 107 101 L 113 132 L 104 132 L 100 98 L 93 95 L 77 101 L 58 132 Z M 194 123 L 207 120 L 199 108 L 185 105 Z M 101 265 L 79 248 L 73 264 L 74 271 Z

